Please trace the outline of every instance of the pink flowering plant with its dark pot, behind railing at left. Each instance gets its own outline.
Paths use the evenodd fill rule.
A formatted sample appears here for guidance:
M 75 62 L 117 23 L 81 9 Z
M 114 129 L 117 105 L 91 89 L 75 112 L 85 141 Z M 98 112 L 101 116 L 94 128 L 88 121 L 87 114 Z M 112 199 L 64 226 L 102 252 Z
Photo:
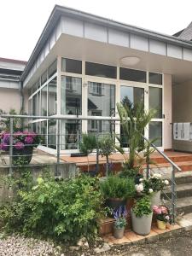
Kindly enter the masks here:
M 9 151 L 10 133 L 0 136 L 0 149 Z M 41 143 L 41 137 L 32 131 L 16 131 L 13 134 L 13 164 L 29 164 L 32 160 L 32 149 Z

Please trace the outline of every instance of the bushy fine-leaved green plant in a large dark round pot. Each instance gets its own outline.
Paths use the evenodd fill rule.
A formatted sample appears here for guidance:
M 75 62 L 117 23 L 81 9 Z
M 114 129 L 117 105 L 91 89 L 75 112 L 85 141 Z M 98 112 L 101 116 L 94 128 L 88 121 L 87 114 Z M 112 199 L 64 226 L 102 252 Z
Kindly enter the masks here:
M 100 183 L 102 195 L 106 200 L 106 206 L 113 211 L 119 207 L 125 207 L 127 198 L 135 195 L 135 183 L 133 179 L 110 176 Z

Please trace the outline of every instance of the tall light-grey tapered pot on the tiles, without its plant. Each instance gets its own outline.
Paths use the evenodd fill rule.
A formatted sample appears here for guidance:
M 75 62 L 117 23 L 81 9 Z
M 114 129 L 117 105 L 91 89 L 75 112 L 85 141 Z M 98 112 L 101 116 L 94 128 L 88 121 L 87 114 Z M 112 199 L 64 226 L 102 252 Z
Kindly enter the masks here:
M 151 230 L 152 217 L 153 212 L 151 212 L 149 215 L 137 217 L 131 209 L 132 230 L 138 235 L 148 235 Z

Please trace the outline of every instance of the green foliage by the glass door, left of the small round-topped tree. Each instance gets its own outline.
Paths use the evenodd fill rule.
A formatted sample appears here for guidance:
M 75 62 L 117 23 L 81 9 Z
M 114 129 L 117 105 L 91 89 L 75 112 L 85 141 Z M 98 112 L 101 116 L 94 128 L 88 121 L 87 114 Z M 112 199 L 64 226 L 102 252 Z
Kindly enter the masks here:
M 84 154 L 90 154 L 96 148 L 96 136 L 93 134 L 82 134 L 82 142 L 79 143 L 79 149 Z

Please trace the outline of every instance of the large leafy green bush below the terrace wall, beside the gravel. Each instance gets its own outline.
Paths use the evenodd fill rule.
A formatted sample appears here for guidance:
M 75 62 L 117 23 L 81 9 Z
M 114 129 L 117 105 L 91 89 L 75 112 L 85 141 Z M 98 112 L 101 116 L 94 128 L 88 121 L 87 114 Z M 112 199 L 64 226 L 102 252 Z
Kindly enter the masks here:
M 55 182 L 39 177 L 35 187 L 20 190 L 17 201 L 1 207 L 0 216 L 7 231 L 76 241 L 81 236 L 96 235 L 101 205 L 95 178 Z

